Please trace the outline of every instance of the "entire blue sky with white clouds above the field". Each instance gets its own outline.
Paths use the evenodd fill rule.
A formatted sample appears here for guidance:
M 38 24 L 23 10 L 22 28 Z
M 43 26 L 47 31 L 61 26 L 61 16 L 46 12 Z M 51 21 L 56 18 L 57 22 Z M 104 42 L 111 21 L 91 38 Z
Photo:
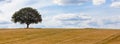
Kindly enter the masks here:
M 31 28 L 120 28 L 120 0 L 0 0 L 0 28 L 25 28 L 11 21 L 24 7 L 42 15 Z

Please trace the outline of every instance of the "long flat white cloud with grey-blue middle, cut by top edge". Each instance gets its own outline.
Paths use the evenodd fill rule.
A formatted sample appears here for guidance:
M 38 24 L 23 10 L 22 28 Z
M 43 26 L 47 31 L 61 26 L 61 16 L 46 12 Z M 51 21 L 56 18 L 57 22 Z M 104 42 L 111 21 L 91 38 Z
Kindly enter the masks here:
M 58 5 L 81 5 L 89 0 L 53 0 Z

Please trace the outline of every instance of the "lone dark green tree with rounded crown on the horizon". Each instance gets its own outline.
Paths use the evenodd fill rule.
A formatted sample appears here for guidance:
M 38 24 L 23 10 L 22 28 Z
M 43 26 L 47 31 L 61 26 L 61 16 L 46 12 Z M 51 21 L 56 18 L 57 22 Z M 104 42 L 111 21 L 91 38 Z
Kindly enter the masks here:
M 36 9 L 25 7 L 13 14 L 12 21 L 14 23 L 26 24 L 26 28 L 29 28 L 30 24 L 42 22 L 42 18 Z

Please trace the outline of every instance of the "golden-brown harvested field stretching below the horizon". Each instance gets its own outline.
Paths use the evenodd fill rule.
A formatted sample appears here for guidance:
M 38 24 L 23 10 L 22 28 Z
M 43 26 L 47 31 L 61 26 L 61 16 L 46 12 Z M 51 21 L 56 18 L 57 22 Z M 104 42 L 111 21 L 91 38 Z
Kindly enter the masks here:
M 120 30 L 0 29 L 0 44 L 120 44 Z

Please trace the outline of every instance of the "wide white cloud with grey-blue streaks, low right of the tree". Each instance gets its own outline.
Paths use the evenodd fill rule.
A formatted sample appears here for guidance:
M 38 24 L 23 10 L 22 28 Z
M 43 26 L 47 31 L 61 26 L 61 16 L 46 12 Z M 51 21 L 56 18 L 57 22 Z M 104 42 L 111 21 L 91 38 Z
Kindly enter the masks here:
M 60 14 L 51 18 L 52 20 L 48 20 L 45 26 L 53 26 L 53 27 L 86 27 L 87 22 L 91 20 L 91 16 L 85 14 Z M 48 25 L 49 24 L 49 25 Z

